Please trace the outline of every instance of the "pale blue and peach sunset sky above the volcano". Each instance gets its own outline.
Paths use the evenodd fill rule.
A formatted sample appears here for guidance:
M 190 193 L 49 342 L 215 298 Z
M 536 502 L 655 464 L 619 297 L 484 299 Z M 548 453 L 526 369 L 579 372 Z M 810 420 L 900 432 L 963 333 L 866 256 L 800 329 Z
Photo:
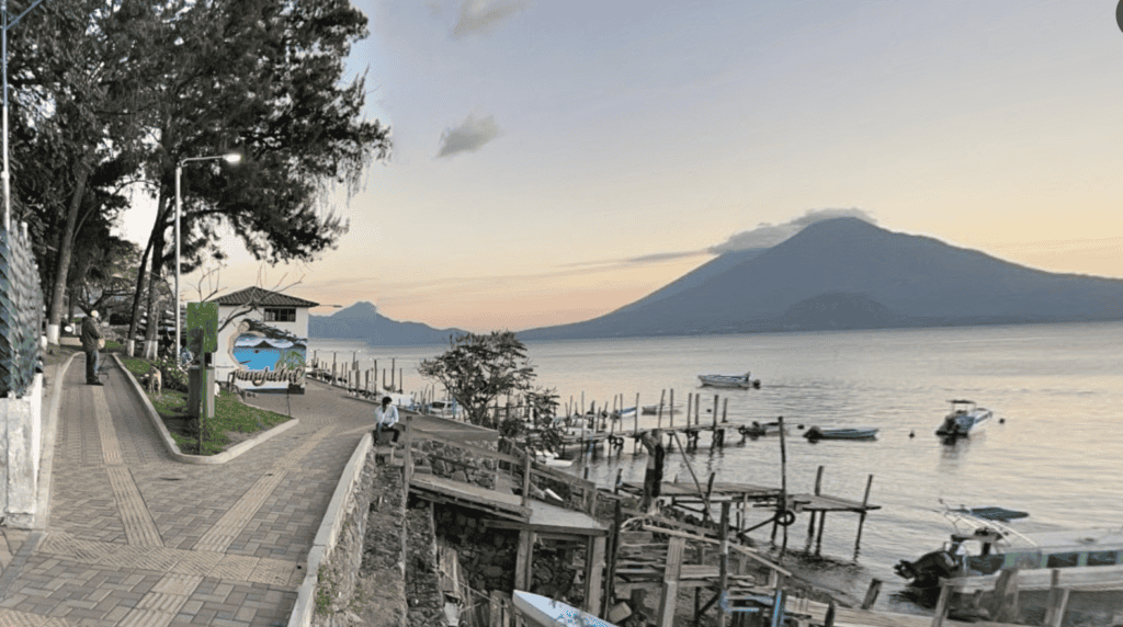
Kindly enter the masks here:
M 353 2 L 393 154 L 325 199 L 350 230 L 313 262 L 226 237 L 227 292 L 523 330 L 836 215 L 1123 278 L 1115 0 Z

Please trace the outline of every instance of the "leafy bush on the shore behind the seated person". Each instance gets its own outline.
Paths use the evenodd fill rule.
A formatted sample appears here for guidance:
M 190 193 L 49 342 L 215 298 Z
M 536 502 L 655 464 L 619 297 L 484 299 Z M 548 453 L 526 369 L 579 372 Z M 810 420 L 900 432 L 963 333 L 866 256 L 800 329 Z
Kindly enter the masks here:
M 449 344 L 445 353 L 422 361 L 418 372 L 440 381 L 469 422 L 496 428 L 487 406 L 500 396 L 529 390 L 535 378 L 527 348 L 513 331 L 465 333 Z

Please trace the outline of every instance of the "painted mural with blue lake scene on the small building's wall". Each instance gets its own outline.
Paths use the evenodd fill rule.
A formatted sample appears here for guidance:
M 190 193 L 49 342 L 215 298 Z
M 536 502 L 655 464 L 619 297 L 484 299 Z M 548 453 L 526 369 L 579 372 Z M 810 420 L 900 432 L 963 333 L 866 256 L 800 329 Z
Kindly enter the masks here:
M 307 338 L 243 319 L 227 350 L 235 365 L 228 377 L 239 388 L 304 394 Z

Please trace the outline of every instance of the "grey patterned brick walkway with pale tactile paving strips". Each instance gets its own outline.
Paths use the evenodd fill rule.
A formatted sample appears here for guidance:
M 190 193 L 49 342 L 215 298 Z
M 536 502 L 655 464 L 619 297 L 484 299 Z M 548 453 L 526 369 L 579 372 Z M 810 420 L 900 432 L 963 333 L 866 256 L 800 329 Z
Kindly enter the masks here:
M 61 374 L 47 527 L 0 529 L 0 626 L 286 625 L 371 406 L 311 384 L 294 428 L 225 464 L 184 464 L 128 375 L 104 360 L 106 385 L 86 386 L 83 359 Z

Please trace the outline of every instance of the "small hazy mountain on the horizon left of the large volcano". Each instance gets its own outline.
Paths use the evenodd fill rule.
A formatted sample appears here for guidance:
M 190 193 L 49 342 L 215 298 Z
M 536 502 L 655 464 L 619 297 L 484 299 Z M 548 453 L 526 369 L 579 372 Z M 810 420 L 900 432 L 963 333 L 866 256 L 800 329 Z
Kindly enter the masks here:
M 355 303 L 331 315 L 311 315 L 308 334 L 325 340 L 363 340 L 378 347 L 446 344 L 459 329 L 433 329 L 419 322 L 398 322 L 378 313 L 372 303 Z

